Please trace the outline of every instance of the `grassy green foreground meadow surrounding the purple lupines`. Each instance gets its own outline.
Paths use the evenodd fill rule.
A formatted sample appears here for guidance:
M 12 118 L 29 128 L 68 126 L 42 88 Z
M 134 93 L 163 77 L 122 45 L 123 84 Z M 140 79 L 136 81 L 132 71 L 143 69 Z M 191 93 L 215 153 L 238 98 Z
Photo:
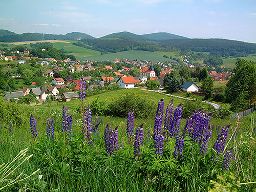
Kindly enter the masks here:
M 167 103 L 173 99 L 170 96 L 160 93 L 142 91 L 141 89 L 117 90 L 87 97 L 85 102 L 93 103 L 94 100 L 104 99 L 111 102 L 121 95 L 135 94 L 158 102 L 164 99 L 164 111 Z M 183 99 L 174 98 L 174 109 Z M 63 115 L 62 106 L 65 104 L 70 116 L 73 117 L 72 136 L 62 133 Z M 241 181 L 240 191 L 250 191 L 255 188 L 253 184 L 243 185 L 246 181 L 255 181 L 254 166 L 255 135 L 253 127 L 254 114 L 242 118 L 239 124 L 236 119 L 216 119 L 211 117 L 212 139 L 208 143 L 208 151 L 205 155 L 200 154 L 199 144 L 184 137 L 184 152 L 182 156 L 175 157 L 176 143 L 172 138 L 164 141 L 163 154 L 155 154 L 153 137 L 155 118 L 138 119 L 134 118 L 134 129 L 143 123 L 143 146 L 139 145 L 141 156 L 134 157 L 133 144 L 129 144 L 126 134 L 126 118 L 113 116 L 92 116 L 92 124 L 95 125 L 95 118 L 99 118 L 97 132 L 92 135 L 93 143 L 88 144 L 82 133 L 83 120 L 81 116 L 81 102 L 73 100 L 70 102 L 52 101 L 42 105 L 17 105 L 0 100 L 2 111 L 2 128 L 0 129 L 0 164 L 10 162 L 20 150 L 29 147 L 27 155 L 33 156 L 24 162 L 17 160 L 14 167 L 18 166 L 7 180 L 2 180 L 3 172 L 0 169 L 0 188 L 14 181 L 20 173 L 18 181 L 31 175 L 31 177 L 17 182 L 3 191 L 208 191 L 214 187 L 210 180 L 218 181 L 222 187 L 232 191 L 237 185 L 233 182 Z M 207 108 L 207 106 L 204 106 Z M 178 108 L 177 108 L 178 109 Z M 179 108 L 180 109 L 180 108 Z M 155 109 L 157 110 L 157 109 Z M 37 126 L 37 139 L 32 139 L 29 118 L 33 114 Z M 204 114 L 204 113 L 201 113 Z M 174 114 L 174 116 L 176 116 Z M 89 116 L 86 116 L 89 117 Z M 50 121 L 53 119 L 54 121 Z M 48 121 L 47 121 L 48 119 Z M 101 120 L 102 119 L 102 123 Z M 10 130 L 9 120 L 12 122 Z M 251 121 L 252 120 L 252 121 Z M 50 123 L 54 122 L 54 135 L 49 134 Z M 65 121 L 67 122 L 67 121 Z M 70 122 L 70 121 L 69 121 Z M 112 129 L 118 126 L 119 150 L 113 154 L 106 153 L 104 135 L 106 124 L 111 123 Z M 239 151 L 234 149 L 237 159 L 231 160 L 229 170 L 223 170 L 222 160 L 212 160 L 216 151 L 211 150 L 215 144 L 221 128 L 230 124 L 231 128 L 227 136 L 230 138 L 230 146 L 236 146 L 238 141 Z M 180 129 L 186 124 L 186 119 L 181 119 Z M 164 123 L 163 125 L 164 126 Z M 48 132 L 47 132 L 48 129 Z M 232 131 L 237 129 L 237 134 Z M 113 129 L 114 130 L 114 129 Z M 140 128 L 141 130 L 141 128 Z M 151 130 L 151 131 L 150 131 Z M 222 129 L 223 130 L 223 129 Z M 10 132 L 11 131 L 11 132 Z M 13 133 L 13 134 L 11 134 Z M 236 132 L 234 132 L 236 133 Z M 66 139 L 65 139 L 66 138 Z M 154 153 L 155 152 L 155 153 Z M 246 155 L 245 155 L 246 154 Z M 239 156 L 237 156 L 239 155 Z M 243 157 L 241 161 L 238 158 Z M 238 164 L 239 163 L 239 164 Z M 242 165 L 240 165 L 242 164 Z M 12 168 L 11 167 L 11 170 Z M 241 170 L 241 167 L 244 170 Z M 245 172 L 246 170 L 246 172 Z M 232 179 L 231 173 L 236 174 Z M 225 183 L 219 181 L 217 175 L 222 174 Z M 229 185 L 231 184 L 231 186 Z M 225 188 L 226 189 L 226 188 Z

